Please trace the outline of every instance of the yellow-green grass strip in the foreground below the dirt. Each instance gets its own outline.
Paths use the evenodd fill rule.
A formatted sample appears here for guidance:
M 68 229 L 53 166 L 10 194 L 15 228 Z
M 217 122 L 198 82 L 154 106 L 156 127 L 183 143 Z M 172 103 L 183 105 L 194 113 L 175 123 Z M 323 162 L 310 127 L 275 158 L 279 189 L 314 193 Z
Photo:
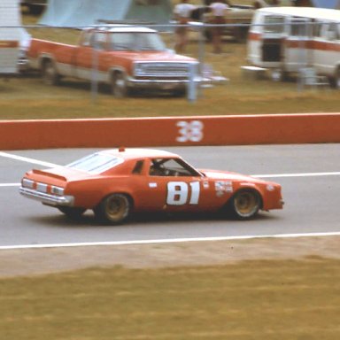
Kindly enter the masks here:
M 309 258 L 0 280 L 1 338 L 334 340 L 339 265 Z

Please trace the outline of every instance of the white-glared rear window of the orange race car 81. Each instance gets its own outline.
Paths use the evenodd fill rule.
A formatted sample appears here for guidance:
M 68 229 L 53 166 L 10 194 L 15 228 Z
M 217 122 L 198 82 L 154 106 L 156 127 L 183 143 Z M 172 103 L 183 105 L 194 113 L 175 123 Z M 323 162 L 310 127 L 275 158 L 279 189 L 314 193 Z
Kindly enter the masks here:
M 89 174 L 101 174 L 114 166 L 123 162 L 122 158 L 117 158 L 106 153 L 94 153 L 84 158 L 75 160 L 66 167 L 81 170 Z

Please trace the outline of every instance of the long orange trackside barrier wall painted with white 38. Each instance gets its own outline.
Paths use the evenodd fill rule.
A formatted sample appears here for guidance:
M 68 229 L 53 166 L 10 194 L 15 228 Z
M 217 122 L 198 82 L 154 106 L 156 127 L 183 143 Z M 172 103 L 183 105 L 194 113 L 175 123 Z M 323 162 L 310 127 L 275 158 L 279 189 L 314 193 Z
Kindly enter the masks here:
M 339 143 L 340 113 L 0 120 L 0 149 Z

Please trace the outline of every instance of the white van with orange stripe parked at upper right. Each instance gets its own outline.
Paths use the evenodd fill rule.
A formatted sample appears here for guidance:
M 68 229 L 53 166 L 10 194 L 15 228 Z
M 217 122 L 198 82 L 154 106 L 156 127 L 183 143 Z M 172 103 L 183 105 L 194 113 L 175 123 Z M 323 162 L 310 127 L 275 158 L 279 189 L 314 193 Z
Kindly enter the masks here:
M 340 89 L 340 11 L 312 7 L 268 7 L 255 12 L 248 37 L 252 66 L 284 77 L 306 67 Z

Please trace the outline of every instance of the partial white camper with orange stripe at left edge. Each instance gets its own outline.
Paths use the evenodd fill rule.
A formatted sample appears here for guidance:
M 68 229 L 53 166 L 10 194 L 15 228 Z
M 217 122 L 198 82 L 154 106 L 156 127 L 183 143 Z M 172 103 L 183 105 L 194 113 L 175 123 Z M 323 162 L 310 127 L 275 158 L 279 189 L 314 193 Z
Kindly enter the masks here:
M 0 75 L 19 72 L 19 0 L 0 0 Z

